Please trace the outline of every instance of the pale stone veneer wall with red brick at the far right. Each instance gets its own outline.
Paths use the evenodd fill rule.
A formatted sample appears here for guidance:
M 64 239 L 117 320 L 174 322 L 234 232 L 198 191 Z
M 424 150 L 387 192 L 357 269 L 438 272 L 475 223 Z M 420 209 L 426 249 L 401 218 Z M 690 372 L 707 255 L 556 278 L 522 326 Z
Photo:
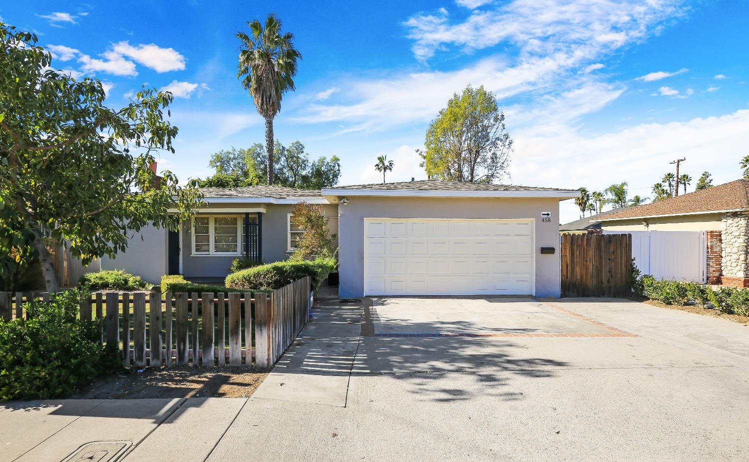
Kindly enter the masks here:
M 721 226 L 721 240 L 721 282 L 746 287 L 749 284 L 749 213 L 726 213 Z

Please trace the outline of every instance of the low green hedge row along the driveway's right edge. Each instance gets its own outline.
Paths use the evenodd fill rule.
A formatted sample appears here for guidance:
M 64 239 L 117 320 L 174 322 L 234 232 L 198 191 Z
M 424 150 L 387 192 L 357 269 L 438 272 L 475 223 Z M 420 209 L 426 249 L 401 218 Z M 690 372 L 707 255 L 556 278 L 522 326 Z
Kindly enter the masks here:
M 637 294 L 666 305 L 686 305 L 690 302 L 700 306 L 711 304 L 722 313 L 749 316 L 749 290 L 721 287 L 715 291 L 697 282 L 658 280 L 653 276 L 641 277 L 636 287 Z

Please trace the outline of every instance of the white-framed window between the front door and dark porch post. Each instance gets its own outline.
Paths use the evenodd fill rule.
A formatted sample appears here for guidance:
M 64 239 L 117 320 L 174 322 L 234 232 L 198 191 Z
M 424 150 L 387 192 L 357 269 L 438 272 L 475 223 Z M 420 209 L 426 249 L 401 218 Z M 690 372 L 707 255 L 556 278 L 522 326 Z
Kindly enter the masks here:
M 192 255 L 241 255 L 241 216 L 196 216 L 192 219 Z

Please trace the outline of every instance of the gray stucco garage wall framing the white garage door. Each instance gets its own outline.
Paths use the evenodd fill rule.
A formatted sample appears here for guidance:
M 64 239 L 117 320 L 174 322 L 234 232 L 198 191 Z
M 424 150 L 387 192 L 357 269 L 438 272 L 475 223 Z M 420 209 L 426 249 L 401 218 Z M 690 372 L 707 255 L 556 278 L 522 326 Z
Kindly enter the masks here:
M 541 213 L 551 212 L 551 222 Z M 365 218 L 534 219 L 536 295 L 560 296 L 559 201 L 554 198 L 349 198 L 339 207 L 339 295 L 364 294 Z M 541 247 L 554 247 L 542 255 Z

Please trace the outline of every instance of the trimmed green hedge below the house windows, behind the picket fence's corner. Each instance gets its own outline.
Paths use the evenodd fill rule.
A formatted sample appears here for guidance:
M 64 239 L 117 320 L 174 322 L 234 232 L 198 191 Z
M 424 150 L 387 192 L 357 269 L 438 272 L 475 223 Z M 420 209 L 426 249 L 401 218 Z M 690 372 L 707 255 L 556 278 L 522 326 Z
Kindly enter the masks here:
M 328 274 L 336 270 L 334 258 L 312 261 L 279 261 L 241 270 L 226 276 L 226 287 L 243 291 L 274 291 L 304 276 L 312 278 L 312 289 L 318 291 Z

